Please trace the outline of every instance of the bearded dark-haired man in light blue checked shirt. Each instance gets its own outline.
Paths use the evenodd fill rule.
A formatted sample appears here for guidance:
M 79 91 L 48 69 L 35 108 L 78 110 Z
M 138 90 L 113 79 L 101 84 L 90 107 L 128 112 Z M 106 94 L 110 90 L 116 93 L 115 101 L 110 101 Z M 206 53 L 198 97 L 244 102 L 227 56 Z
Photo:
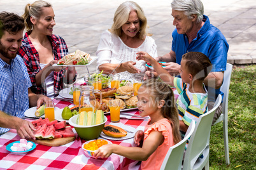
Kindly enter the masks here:
M 35 139 L 34 126 L 20 119 L 25 110 L 39 106 L 44 95 L 32 93 L 32 86 L 25 64 L 17 55 L 22 43 L 24 19 L 14 13 L 0 13 L 0 135 L 17 129 L 21 138 Z

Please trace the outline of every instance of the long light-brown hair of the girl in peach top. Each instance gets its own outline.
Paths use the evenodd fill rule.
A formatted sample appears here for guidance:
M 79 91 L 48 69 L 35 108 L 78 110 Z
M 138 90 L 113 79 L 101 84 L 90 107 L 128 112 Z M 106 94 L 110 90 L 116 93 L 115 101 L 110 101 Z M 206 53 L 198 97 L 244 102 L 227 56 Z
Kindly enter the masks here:
M 174 101 L 173 89 L 165 82 L 159 81 L 159 79 L 149 79 L 143 82 L 141 86 L 150 90 L 154 100 L 164 100 L 164 105 L 161 108 L 162 115 L 171 122 L 173 140 L 175 144 L 178 143 L 181 140 L 180 121 L 178 118 L 178 109 Z

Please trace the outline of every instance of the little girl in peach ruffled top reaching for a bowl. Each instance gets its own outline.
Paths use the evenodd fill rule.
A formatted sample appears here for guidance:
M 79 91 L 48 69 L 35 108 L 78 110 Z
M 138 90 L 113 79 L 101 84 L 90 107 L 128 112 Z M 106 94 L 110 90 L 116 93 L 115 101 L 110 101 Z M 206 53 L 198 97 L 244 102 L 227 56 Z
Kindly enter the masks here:
M 94 156 L 109 157 L 112 153 L 129 159 L 143 160 L 141 169 L 160 169 L 170 147 L 180 141 L 178 111 L 174 105 L 173 90 L 164 82 L 151 79 L 138 90 L 138 109 L 142 116 L 150 116 L 145 131 L 137 131 L 134 143 L 142 147 L 103 145 Z

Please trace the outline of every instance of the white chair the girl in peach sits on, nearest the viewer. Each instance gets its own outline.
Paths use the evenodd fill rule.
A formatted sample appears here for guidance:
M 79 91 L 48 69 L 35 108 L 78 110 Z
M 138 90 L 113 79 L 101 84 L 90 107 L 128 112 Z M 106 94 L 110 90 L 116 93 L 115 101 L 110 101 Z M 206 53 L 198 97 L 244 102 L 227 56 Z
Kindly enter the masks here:
M 187 133 L 185 134 L 185 137 L 183 140 L 181 140 L 179 143 L 176 143 L 173 147 L 169 148 L 166 157 L 164 158 L 164 162 L 162 162 L 162 166 L 160 167 L 160 170 L 164 169 L 181 169 L 181 162 L 183 158 L 183 152 L 185 150 L 185 145 L 187 143 L 188 138 L 191 136 L 191 134 L 194 132 L 196 127 L 196 122 L 193 120 L 190 123 L 190 126 L 187 129 Z

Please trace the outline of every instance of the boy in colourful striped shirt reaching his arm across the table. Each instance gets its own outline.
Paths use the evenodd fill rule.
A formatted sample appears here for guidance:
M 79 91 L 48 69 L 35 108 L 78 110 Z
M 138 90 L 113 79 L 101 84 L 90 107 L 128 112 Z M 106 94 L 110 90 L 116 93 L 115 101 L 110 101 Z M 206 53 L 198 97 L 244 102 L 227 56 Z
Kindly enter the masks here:
M 149 62 L 164 82 L 177 89 L 179 96 L 176 103 L 178 105 L 180 131 L 187 132 L 192 119 L 197 122 L 200 115 L 208 112 L 208 92 L 203 81 L 211 71 L 209 58 L 200 52 L 189 52 L 183 55 L 180 64 L 180 79 L 171 76 L 148 53 L 140 51 L 137 54 L 137 60 Z

